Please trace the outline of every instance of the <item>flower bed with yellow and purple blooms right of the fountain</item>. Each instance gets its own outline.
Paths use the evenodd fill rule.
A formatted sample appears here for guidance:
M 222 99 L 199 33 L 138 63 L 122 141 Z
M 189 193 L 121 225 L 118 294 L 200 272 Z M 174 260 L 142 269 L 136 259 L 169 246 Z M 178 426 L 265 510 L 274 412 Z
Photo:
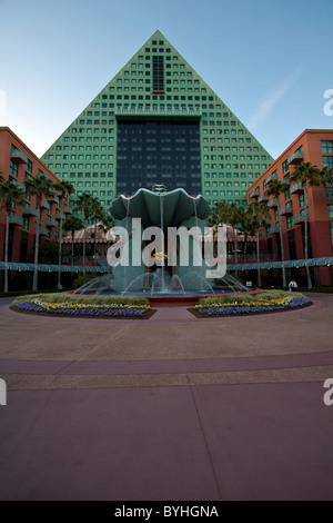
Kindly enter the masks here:
M 212 299 L 212 298 L 210 298 Z M 234 300 L 226 303 L 202 303 L 194 305 L 191 312 L 196 317 L 211 317 L 211 316 L 240 316 L 274 313 L 281 310 L 290 310 L 311 305 L 312 302 L 305 296 L 287 295 L 281 298 L 266 299 L 258 297 L 255 300 Z

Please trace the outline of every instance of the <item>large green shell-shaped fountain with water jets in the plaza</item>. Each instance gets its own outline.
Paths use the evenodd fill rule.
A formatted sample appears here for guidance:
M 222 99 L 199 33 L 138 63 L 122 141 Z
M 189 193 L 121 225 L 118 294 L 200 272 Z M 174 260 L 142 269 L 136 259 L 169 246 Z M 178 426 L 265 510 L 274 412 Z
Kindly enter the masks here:
M 164 186 L 155 186 L 153 190 L 139 189 L 132 197 L 119 196 L 110 213 L 127 237 L 129 264 L 114 263 L 111 275 L 94 278 L 75 293 L 143 294 L 151 298 L 171 296 L 179 299 L 218 293 L 213 289 L 214 282 L 206 278 L 209 266 L 200 244 L 210 211 L 209 203 L 201 195 L 191 197 L 183 189 L 167 191 Z M 155 240 L 148 244 L 144 234 L 152 227 L 162 231 L 161 239 L 155 236 Z M 182 234 L 188 234 L 188 241 L 182 243 L 179 233 L 174 240 L 170 240 L 169 230 L 182 230 Z M 147 248 L 152 244 L 155 248 L 153 262 L 149 265 Z M 222 292 L 249 292 L 230 275 L 225 275 L 222 283 L 225 286 Z

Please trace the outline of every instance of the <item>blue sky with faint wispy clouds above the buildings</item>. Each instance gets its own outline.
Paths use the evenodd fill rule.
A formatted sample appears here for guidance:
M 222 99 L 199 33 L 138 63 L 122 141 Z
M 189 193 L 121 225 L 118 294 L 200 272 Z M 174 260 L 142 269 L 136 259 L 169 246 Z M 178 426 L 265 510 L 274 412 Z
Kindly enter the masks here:
M 274 158 L 333 128 L 333 0 L 0 0 L 0 126 L 41 156 L 157 29 Z

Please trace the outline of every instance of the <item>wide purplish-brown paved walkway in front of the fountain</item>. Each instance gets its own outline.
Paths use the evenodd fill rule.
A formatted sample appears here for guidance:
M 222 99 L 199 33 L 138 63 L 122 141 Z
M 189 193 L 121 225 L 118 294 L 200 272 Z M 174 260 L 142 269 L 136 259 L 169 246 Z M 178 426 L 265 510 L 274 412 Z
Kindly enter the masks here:
M 333 296 L 196 319 L 48 318 L 0 300 L 1 500 L 332 500 Z

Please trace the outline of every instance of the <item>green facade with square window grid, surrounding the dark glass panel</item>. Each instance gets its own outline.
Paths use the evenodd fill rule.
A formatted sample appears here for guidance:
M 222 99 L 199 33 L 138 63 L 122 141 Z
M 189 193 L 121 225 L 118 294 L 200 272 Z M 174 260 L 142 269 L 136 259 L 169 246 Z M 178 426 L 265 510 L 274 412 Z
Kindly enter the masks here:
M 157 75 L 157 67 L 160 72 Z M 158 67 L 158 69 L 159 69 Z M 162 86 L 163 89 L 157 89 Z M 160 81 L 160 83 L 159 83 Z M 158 85 L 159 83 L 159 85 Z M 154 90 L 164 92 L 153 93 Z M 211 91 L 205 82 L 193 71 L 185 60 L 164 39 L 151 39 L 132 60 L 115 76 L 98 97 L 82 111 L 68 131 L 49 150 L 50 156 L 65 151 L 64 147 L 78 147 L 81 155 L 73 152 L 72 158 L 57 158 L 57 172 L 73 180 L 89 177 L 91 170 L 102 172 L 117 181 L 118 150 L 117 129 L 119 118 L 124 115 L 157 119 L 164 115 L 186 119 L 191 115 L 201 118 L 201 170 L 202 179 L 208 175 L 208 190 L 213 189 L 212 180 L 232 179 L 229 197 L 245 204 L 245 189 L 272 162 L 272 158 L 248 132 L 228 107 Z M 91 154 L 88 147 L 112 147 Z M 79 149 L 81 147 L 81 149 Z M 68 149 L 67 149 L 68 150 Z M 73 150 L 73 149 L 71 149 Z M 47 161 L 51 157 L 44 158 Z M 70 161 L 72 160 L 72 161 Z M 53 165 L 53 164 L 51 164 Z M 70 174 L 68 172 L 70 171 Z M 243 191 L 236 185 L 242 179 Z M 172 188 L 172 187 L 170 187 Z M 210 203 L 214 197 L 211 195 Z M 241 195 L 239 195 L 241 193 Z

